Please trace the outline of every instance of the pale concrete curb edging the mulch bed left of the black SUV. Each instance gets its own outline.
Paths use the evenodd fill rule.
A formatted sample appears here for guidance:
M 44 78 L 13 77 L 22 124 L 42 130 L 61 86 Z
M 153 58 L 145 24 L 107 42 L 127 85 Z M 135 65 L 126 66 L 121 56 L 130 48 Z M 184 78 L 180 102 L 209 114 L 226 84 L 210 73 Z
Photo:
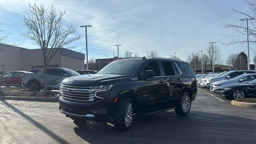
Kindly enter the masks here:
M 34 97 L 21 97 L 21 96 L 0 96 L 0 100 L 28 100 L 39 102 L 58 102 L 59 98 L 34 98 Z

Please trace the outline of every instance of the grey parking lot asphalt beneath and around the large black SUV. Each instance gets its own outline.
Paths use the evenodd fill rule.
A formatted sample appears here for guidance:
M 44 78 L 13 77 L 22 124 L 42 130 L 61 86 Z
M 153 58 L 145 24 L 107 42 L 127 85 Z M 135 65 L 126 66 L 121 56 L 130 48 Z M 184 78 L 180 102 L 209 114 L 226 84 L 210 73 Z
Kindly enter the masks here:
M 230 100 L 202 90 L 198 89 L 187 116 L 169 110 L 135 117 L 127 132 L 117 132 L 112 124 L 74 122 L 59 112 L 57 102 L 0 100 L 0 144 L 255 144 L 256 109 L 233 106 Z

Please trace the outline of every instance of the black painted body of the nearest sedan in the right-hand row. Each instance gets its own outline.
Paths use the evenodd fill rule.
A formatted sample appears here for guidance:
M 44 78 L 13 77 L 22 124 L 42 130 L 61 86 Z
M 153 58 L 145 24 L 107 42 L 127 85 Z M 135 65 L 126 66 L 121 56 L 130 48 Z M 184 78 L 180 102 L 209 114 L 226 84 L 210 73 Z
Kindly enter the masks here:
M 230 90 L 223 90 L 224 88 L 232 88 Z M 242 90 L 245 93 L 245 97 L 256 97 L 256 84 L 227 84 L 218 88 L 218 94 L 220 96 L 233 99 L 234 90 Z

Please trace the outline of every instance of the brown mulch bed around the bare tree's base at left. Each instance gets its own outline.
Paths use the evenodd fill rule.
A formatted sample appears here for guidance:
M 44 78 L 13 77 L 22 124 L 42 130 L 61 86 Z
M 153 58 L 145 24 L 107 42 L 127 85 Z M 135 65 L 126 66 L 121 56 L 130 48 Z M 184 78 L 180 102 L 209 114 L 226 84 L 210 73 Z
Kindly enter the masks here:
M 37 92 L 30 92 L 29 90 L 21 90 L 26 88 L 1 88 L 0 89 L 0 96 L 22 96 L 22 97 L 36 97 L 36 98 L 50 98 L 50 97 L 56 97 L 59 92 L 52 92 L 52 91 L 37 91 Z M 19 90 L 10 92 L 11 90 Z

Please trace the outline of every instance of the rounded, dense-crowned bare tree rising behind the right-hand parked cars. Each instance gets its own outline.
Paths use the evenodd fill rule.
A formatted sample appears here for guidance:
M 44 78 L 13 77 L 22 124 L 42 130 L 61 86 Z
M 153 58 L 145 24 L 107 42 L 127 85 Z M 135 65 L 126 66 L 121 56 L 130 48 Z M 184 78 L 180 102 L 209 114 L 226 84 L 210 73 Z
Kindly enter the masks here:
M 212 65 L 214 66 L 214 64 L 216 64 L 221 58 L 220 49 L 216 44 L 214 44 L 213 47 L 212 44 L 210 44 L 208 48 L 206 48 L 206 54 L 208 55 L 208 62 L 211 67 Z

